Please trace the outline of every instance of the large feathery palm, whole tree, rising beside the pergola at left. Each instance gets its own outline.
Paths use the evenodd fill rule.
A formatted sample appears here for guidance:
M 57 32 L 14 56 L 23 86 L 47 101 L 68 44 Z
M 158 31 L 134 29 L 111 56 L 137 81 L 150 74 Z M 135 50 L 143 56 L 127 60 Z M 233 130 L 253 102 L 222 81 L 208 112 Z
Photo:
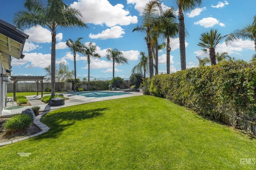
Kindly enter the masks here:
M 51 51 L 51 81 L 52 94 L 55 95 L 55 57 L 56 57 L 56 28 L 60 27 L 87 27 L 79 18 L 82 17 L 79 10 L 68 7 L 62 0 L 48 0 L 48 4 L 43 4 L 42 0 L 26 0 L 22 10 L 14 14 L 14 24 L 18 28 L 42 26 L 47 27 L 52 32 Z

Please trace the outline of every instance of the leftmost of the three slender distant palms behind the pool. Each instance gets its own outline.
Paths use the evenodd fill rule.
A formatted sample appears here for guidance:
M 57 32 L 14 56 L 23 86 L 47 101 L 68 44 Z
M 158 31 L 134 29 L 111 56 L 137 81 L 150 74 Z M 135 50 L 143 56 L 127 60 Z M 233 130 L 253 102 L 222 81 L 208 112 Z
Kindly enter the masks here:
M 80 42 L 81 39 L 83 39 L 83 38 L 80 37 L 75 42 L 73 42 L 73 40 L 71 40 L 71 39 L 66 40 L 66 45 L 70 48 L 70 51 L 73 52 L 73 56 L 74 56 L 74 76 L 75 76 L 75 81 L 76 81 L 76 52 L 82 53 L 83 44 Z M 74 84 L 74 90 L 76 90 L 76 83 Z

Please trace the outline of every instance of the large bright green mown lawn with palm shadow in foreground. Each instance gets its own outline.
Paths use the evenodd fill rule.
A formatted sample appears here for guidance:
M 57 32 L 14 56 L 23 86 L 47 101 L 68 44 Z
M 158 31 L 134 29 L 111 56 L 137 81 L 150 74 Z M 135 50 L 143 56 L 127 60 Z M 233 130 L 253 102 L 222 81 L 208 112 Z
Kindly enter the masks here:
M 42 122 L 48 132 L 0 148 L 2 169 L 256 168 L 240 162 L 256 158 L 256 139 L 158 97 L 66 107 Z

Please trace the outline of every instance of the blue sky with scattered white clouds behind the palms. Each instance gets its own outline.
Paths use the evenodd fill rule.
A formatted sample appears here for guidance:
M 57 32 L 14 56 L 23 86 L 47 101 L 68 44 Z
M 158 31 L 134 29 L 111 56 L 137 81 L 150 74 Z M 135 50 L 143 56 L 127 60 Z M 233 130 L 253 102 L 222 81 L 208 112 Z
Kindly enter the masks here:
M 44 0 L 47 2 L 47 0 Z M 63 0 L 68 6 L 80 10 L 82 20 L 87 28 L 57 28 L 56 65 L 64 61 L 70 71 L 74 69 L 73 54 L 66 46 L 66 40 L 83 39 L 86 44 L 93 42 L 100 53 L 100 59 L 91 59 L 90 79 L 112 79 L 112 61 L 106 60 L 106 49 L 116 48 L 122 51 L 128 59 L 128 64 L 115 66 L 115 77 L 128 79 L 132 67 L 140 61 L 140 51 L 147 54 L 144 41 L 145 33 L 132 32 L 133 28 L 141 25 L 143 8 L 149 0 Z M 164 9 L 173 6 L 177 10 L 175 0 L 162 0 Z M 24 0 L 1 0 L 0 18 L 13 23 L 14 13 L 23 10 Z M 200 34 L 211 28 L 218 29 L 224 36 L 234 30 L 242 29 L 252 24 L 255 13 L 255 0 L 202 0 L 202 4 L 194 10 L 184 12 L 186 36 L 186 65 L 187 68 L 197 67 L 196 56 L 204 57 L 197 45 Z M 178 18 L 178 16 L 177 16 Z M 177 19 L 178 22 L 178 19 Z M 12 59 L 12 75 L 45 75 L 44 68 L 50 65 L 51 34 L 47 28 L 36 27 L 23 30 L 30 35 L 24 46 L 24 59 Z M 160 42 L 165 41 L 160 39 Z M 178 38 L 171 41 L 170 71 L 180 70 L 180 51 Z M 231 57 L 249 61 L 254 51 L 254 42 L 239 40 L 228 46 L 221 42 L 216 52 L 227 52 Z M 88 77 L 88 63 L 84 55 L 78 53 L 76 57 L 77 77 Z M 159 51 L 159 72 L 166 72 L 166 50 Z

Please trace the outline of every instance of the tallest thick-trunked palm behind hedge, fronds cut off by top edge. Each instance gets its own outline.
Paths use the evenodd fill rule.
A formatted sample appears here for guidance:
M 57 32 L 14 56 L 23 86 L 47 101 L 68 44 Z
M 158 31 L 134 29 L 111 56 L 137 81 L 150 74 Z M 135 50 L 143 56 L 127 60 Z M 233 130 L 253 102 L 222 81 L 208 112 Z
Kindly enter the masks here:
M 179 10 L 179 38 L 180 38 L 180 64 L 181 70 L 186 69 L 186 47 L 185 47 L 185 24 L 183 12 L 192 10 L 196 5 L 200 5 L 202 0 L 176 0 Z

